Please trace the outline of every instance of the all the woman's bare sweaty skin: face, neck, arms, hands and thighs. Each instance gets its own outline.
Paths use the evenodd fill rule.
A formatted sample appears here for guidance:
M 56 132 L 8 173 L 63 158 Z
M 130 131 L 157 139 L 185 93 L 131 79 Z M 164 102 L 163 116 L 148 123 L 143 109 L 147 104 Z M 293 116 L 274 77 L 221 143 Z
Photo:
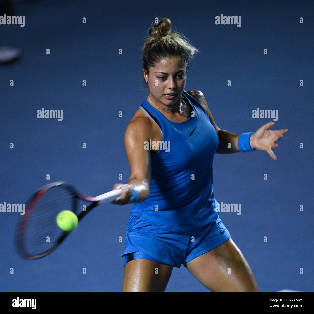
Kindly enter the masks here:
M 186 68 L 180 63 L 178 57 L 161 58 L 157 64 L 149 68 L 149 73 L 143 69 L 145 80 L 150 89 L 151 105 L 156 108 L 173 108 L 170 110 L 158 109 L 168 120 L 184 122 L 191 117 L 189 104 L 181 106 L 181 95 L 186 85 Z M 239 152 L 237 141 L 240 134 L 234 134 L 217 127 L 203 93 L 192 89 L 187 91 L 203 106 L 214 126 L 218 138 L 218 154 L 231 154 Z M 164 97 L 165 94 L 177 94 L 172 100 Z M 178 107 L 179 108 L 175 108 Z M 272 159 L 277 157 L 271 148 L 278 147 L 274 143 L 288 132 L 288 129 L 269 130 L 273 122 L 260 127 L 250 138 L 252 148 L 266 151 Z M 204 135 L 205 136 L 205 135 Z M 144 149 L 145 141 L 162 141 L 162 134 L 157 124 L 151 120 L 141 109 L 138 109 L 126 128 L 124 144 L 130 164 L 130 177 L 128 184 L 138 190 L 137 203 L 143 202 L 148 196 L 151 186 L 151 156 L 157 150 Z M 228 143 L 231 147 L 228 148 Z M 121 187 L 115 184 L 113 189 Z M 131 188 L 124 187 L 119 199 L 112 203 L 128 204 L 131 200 Z M 253 272 L 242 252 L 233 242 L 232 238 L 215 249 L 198 256 L 186 263 L 187 269 L 205 287 L 213 292 L 259 292 Z M 157 272 L 158 269 L 158 272 Z M 231 270 L 231 272 L 229 272 Z M 146 259 L 135 259 L 126 263 L 123 274 L 123 292 L 163 292 L 171 276 L 172 268 L 168 265 Z

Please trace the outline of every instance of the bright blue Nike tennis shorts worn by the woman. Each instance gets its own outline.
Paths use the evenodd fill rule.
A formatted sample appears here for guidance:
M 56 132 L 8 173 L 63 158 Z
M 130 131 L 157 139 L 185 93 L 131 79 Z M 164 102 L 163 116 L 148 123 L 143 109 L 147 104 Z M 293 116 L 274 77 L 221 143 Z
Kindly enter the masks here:
M 230 239 L 219 214 L 208 225 L 180 232 L 159 229 L 142 216 L 130 215 L 125 235 L 124 265 L 143 258 L 178 268 Z

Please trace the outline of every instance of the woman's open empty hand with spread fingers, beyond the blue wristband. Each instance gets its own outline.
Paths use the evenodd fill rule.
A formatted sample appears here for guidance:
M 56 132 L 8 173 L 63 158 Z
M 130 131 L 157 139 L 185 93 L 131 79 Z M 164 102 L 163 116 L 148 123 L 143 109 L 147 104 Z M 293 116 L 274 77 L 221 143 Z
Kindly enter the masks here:
M 283 134 L 288 133 L 288 129 L 270 130 L 269 128 L 274 125 L 275 122 L 271 121 L 260 127 L 251 135 L 250 145 L 252 148 L 267 152 L 273 160 L 277 160 L 276 155 L 271 149 L 279 146 L 275 142 L 279 141 L 283 137 Z

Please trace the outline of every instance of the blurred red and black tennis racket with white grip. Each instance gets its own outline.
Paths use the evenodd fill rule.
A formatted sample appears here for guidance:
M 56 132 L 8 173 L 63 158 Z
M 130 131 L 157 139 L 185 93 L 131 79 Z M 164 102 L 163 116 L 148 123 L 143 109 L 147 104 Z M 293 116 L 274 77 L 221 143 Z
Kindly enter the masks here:
M 122 189 L 116 189 L 96 197 L 79 194 L 64 181 L 50 183 L 35 191 L 26 205 L 24 215 L 17 226 L 15 244 L 21 257 L 38 259 L 52 253 L 71 233 L 59 228 L 57 215 L 70 210 L 80 221 L 96 206 L 111 202 L 120 196 Z M 86 210 L 79 210 L 78 200 L 92 202 Z

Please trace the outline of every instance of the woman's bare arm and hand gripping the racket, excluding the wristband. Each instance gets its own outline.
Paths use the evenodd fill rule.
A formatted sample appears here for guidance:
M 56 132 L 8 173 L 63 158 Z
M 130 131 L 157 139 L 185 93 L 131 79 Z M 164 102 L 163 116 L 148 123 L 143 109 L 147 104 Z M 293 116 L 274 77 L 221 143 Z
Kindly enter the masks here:
M 136 117 L 132 119 L 124 133 L 124 145 L 130 164 L 130 184 L 138 192 L 140 203 L 149 196 L 151 188 L 151 154 L 144 149 L 144 142 L 149 141 L 151 134 L 151 121 L 146 117 Z M 113 186 L 113 190 L 120 188 L 121 183 Z M 125 205 L 131 201 L 132 190 L 124 187 L 121 197 L 113 201 L 114 204 Z

